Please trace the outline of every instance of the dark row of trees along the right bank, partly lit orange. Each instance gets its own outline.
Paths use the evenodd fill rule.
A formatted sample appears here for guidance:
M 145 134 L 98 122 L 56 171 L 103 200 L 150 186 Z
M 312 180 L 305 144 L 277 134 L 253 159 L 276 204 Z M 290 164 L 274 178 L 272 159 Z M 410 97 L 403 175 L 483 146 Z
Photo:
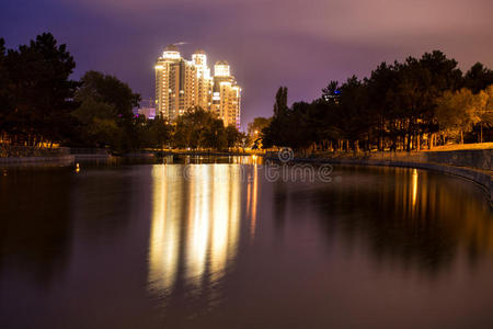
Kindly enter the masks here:
M 445 143 L 452 131 L 457 135 L 478 125 L 491 127 L 490 97 L 482 91 L 490 81 L 491 70 L 481 64 L 462 76 L 456 60 L 435 50 L 403 63 L 381 63 L 363 80 L 355 76 L 342 84 L 331 80 L 311 103 L 287 106 L 287 88 L 282 87 L 274 116 L 262 129 L 263 144 L 298 150 L 411 150 L 425 140 L 433 147 L 435 135 Z M 472 92 L 460 90 L 463 86 Z

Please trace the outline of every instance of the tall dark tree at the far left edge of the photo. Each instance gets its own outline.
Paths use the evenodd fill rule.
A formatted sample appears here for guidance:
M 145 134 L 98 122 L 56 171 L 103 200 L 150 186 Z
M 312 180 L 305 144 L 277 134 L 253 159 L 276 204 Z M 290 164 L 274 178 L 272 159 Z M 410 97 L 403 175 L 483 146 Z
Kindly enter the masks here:
M 2 105 L 2 129 L 19 144 L 64 141 L 70 132 L 78 84 L 69 80 L 76 63 L 66 45 L 58 46 L 50 33 L 43 33 L 30 45 L 8 50 L 7 56 L 3 43 L 0 48 L 8 77 L 2 89 L 10 104 Z

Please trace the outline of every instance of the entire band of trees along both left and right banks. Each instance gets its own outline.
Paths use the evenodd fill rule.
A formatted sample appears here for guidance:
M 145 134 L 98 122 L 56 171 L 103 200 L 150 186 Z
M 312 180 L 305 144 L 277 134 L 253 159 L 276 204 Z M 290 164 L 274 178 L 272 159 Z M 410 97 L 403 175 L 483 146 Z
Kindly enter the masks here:
M 483 140 L 483 129 L 493 136 L 493 71 L 478 63 L 462 76 L 438 50 L 381 63 L 363 80 L 330 80 L 310 103 L 288 106 L 288 89 L 280 87 L 273 117 L 256 117 L 246 138 L 199 107 L 173 124 L 135 116 L 140 97 L 116 77 L 89 71 L 70 80 L 74 60 L 49 33 L 18 49 L 4 45 L 0 38 L 0 134 L 14 145 L 223 149 L 250 138 L 266 148 L 411 150 L 459 134 Z

